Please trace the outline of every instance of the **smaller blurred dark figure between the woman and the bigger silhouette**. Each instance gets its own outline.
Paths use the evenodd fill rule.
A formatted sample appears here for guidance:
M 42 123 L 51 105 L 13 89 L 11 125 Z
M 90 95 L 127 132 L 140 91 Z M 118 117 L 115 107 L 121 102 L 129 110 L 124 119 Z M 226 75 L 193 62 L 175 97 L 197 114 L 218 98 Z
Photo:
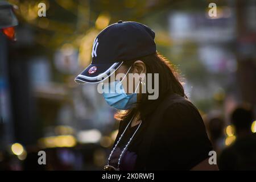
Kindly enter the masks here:
M 210 118 L 207 122 L 207 130 L 214 150 L 220 154 L 225 144 L 224 120 L 221 117 Z

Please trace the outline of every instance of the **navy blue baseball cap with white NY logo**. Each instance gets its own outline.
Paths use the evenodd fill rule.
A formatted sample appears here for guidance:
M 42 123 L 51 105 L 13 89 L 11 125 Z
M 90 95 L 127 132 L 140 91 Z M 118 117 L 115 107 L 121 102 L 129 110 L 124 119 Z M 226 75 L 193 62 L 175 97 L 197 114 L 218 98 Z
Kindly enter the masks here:
M 92 63 L 75 78 L 79 84 L 98 83 L 108 78 L 125 61 L 156 52 L 155 32 L 138 22 L 111 24 L 97 35 Z

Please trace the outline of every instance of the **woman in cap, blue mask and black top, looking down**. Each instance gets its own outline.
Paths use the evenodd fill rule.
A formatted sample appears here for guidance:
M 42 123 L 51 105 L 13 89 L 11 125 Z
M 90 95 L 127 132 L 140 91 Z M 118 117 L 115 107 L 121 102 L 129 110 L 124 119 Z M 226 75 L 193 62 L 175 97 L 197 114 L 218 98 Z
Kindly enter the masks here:
M 119 131 L 104 169 L 218 169 L 208 162 L 212 145 L 199 111 L 169 61 L 156 52 L 154 38 L 154 31 L 137 22 L 106 27 L 94 40 L 92 64 L 75 79 L 102 83 L 106 102 L 122 110 L 115 114 Z M 155 92 L 148 86 L 142 92 L 143 85 Z

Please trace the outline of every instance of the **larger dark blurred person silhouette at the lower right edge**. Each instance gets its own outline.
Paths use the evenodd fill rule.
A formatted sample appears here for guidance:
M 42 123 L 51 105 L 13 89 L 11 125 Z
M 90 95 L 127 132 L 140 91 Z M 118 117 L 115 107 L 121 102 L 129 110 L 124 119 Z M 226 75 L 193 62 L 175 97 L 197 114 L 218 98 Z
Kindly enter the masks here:
M 237 107 L 231 119 L 237 138 L 221 153 L 219 167 L 221 170 L 256 170 L 256 134 L 251 131 L 253 110 Z

